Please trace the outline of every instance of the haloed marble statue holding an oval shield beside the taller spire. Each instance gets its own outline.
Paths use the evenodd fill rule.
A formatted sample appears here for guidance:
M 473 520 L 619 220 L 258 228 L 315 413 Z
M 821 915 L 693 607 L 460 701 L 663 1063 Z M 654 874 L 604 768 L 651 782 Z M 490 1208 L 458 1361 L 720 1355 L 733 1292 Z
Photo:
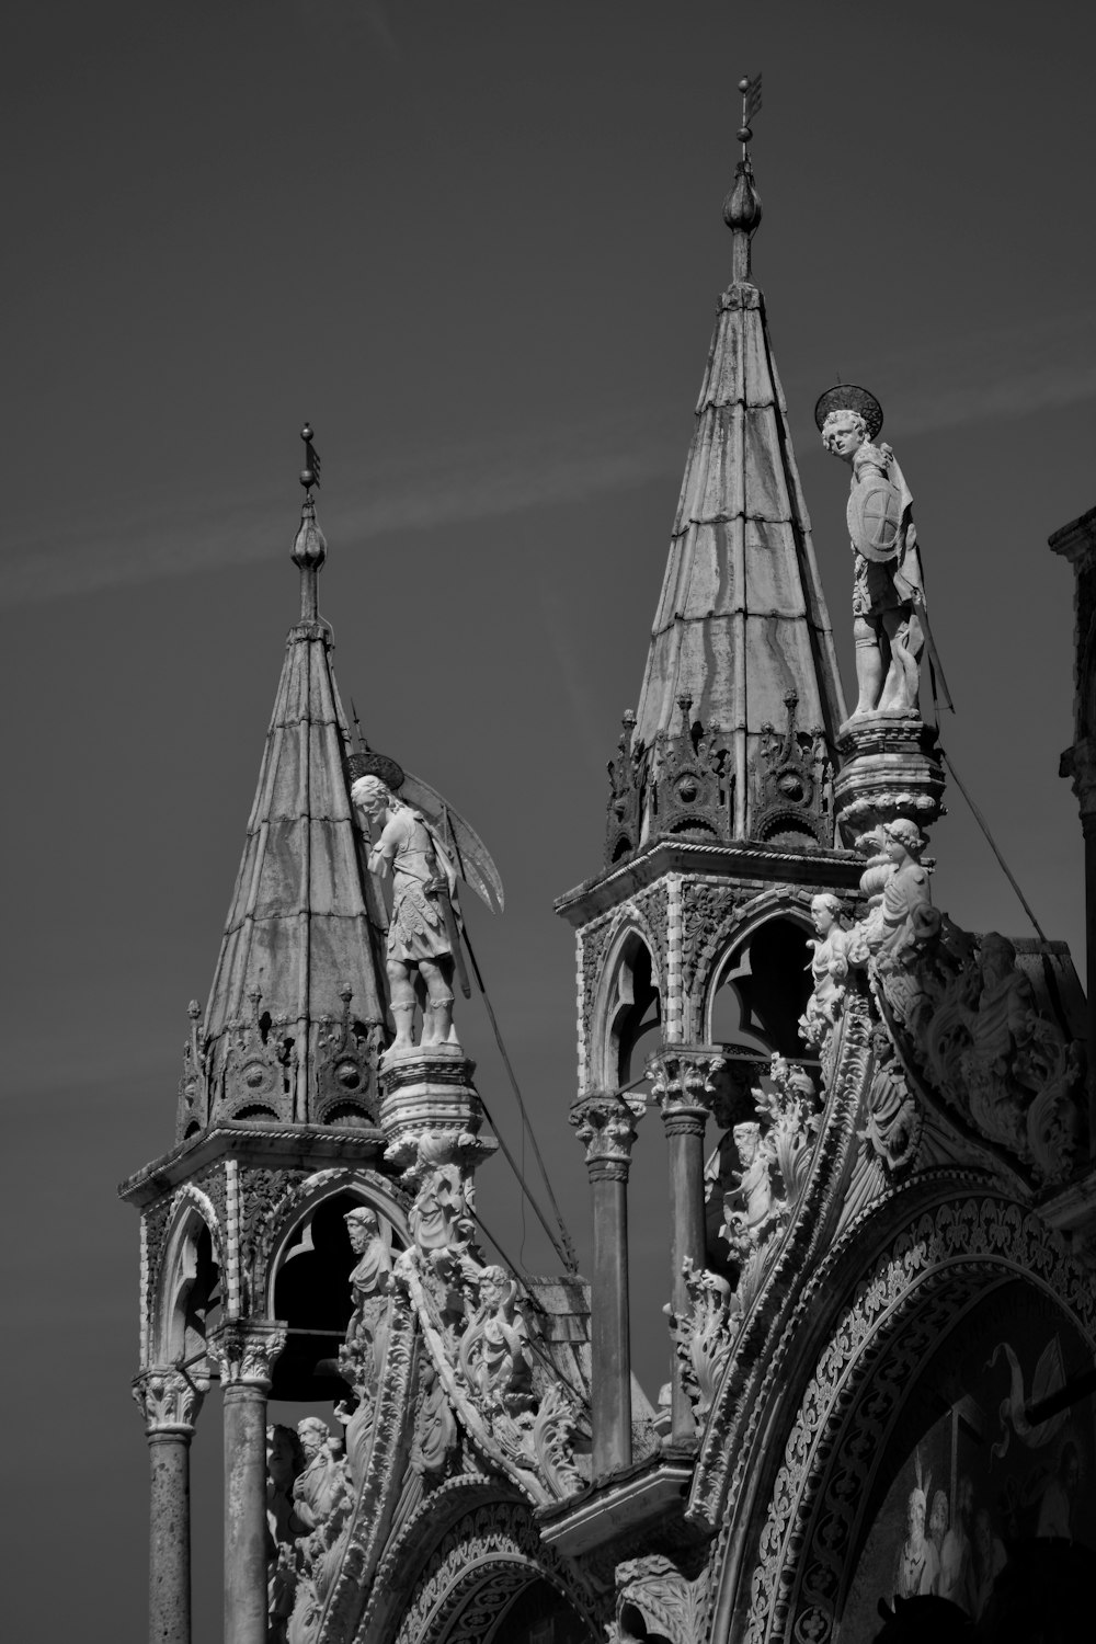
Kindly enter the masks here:
M 925 644 L 925 582 L 909 485 L 882 427 L 879 401 L 863 388 L 830 388 L 815 419 L 822 444 L 853 470 L 848 523 L 853 564 L 853 638 L 858 699 L 866 713 L 917 715 Z

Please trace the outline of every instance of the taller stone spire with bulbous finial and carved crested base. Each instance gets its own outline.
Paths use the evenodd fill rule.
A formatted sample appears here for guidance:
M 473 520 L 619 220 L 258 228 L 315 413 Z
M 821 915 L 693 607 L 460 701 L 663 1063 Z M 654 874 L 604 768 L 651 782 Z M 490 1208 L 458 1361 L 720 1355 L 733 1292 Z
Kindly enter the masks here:
M 746 120 L 738 135 L 743 158 L 723 206 L 733 278 L 697 401 L 639 709 L 611 768 L 608 861 L 667 832 L 833 837 L 823 789 L 846 715 L 764 298 L 751 279 L 761 201 Z

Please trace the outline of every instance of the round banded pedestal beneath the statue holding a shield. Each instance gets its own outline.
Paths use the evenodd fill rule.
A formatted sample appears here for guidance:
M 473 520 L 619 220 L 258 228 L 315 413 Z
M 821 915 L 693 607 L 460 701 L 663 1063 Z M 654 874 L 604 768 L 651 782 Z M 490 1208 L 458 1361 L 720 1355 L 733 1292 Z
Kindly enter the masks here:
M 864 713 L 838 732 L 841 773 L 833 809 L 845 843 L 856 848 L 866 834 L 896 817 L 922 832 L 945 812 L 945 774 L 937 730 L 910 713 Z

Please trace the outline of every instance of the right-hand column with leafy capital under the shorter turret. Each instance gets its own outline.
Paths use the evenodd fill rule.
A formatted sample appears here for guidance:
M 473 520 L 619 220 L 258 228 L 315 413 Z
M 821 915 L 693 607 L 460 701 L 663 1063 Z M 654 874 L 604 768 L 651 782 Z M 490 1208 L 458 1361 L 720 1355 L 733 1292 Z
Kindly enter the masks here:
M 286 1327 L 245 1318 L 215 1332 L 225 1401 L 225 1644 L 266 1644 L 266 1394 Z

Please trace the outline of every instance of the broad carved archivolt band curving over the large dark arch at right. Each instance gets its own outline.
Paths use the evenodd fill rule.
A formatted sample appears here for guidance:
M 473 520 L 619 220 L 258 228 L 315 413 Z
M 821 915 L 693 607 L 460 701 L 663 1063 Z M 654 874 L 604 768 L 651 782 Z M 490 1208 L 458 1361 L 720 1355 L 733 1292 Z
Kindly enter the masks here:
M 917 1190 L 915 1184 L 894 1198 Z M 889 1226 L 897 1208 L 887 1205 Z M 863 1248 L 866 1221 L 848 1230 L 802 1292 L 800 1325 L 818 1310 L 848 1251 Z M 827 1346 L 784 1427 L 789 1437 L 762 1509 L 756 1567 L 741 1588 L 749 1644 L 825 1644 L 833 1636 L 869 1468 L 910 1379 L 956 1315 L 1007 1277 L 1053 1297 L 1096 1346 L 1096 1297 L 1084 1269 L 1037 1215 L 992 1194 L 915 1213 L 831 1318 Z M 741 1567 L 723 1565 L 715 1639 L 731 1626 L 736 1573 Z

